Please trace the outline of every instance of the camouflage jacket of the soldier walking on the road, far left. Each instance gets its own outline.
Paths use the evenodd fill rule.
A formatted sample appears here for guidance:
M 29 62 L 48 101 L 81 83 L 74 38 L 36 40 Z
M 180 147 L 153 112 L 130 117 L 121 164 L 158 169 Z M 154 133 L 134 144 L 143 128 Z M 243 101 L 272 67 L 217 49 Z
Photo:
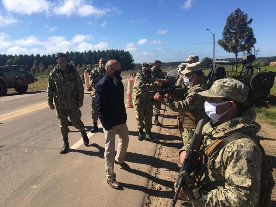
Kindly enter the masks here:
M 53 104 L 54 100 L 57 109 L 71 109 L 83 104 L 83 98 L 84 88 L 75 67 L 67 64 L 62 74 L 58 65 L 55 66 L 48 77 L 48 104 Z

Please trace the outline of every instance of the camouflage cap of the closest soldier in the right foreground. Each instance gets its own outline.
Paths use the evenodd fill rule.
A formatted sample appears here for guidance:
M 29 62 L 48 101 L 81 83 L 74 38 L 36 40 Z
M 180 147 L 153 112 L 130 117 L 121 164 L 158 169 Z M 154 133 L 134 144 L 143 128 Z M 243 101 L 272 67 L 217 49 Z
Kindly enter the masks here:
M 206 97 L 228 98 L 244 103 L 247 98 L 248 88 L 241 81 L 225 78 L 215 81 L 209 90 L 198 94 Z

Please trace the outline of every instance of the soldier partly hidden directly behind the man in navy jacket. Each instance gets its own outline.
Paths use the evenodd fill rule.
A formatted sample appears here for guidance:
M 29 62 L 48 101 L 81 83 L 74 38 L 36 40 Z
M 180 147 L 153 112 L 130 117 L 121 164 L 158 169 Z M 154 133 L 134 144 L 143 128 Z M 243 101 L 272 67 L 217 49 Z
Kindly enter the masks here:
M 92 120 L 93 120 L 93 128 L 90 130 L 91 133 L 96 133 L 98 132 L 98 116 L 97 116 L 97 111 L 96 111 L 96 97 L 95 97 L 95 86 L 96 84 L 100 81 L 100 79 L 105 76 L 105 64 L 106 60 L 101 58 L 99 60 L 99 65 L 100 67 L 95 67 L 94 70 L 90 73 L 89 76 L 89 83 L 91 84 L 91 97 L 92 97 Z M 98 65 L 98 64 L 96 64 Z

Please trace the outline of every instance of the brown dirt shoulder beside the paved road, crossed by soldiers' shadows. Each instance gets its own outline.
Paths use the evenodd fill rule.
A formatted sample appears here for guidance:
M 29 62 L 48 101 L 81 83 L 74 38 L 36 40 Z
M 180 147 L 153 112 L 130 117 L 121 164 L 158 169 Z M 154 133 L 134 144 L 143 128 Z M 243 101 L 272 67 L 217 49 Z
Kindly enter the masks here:
M 177 129 L 176 112 L 166 107 L 163 115 L 163 127 L 160 131 L 159 142 L 155 157 L 158 158 L 150 175 L 155 177 L 149 181 L 147 188 L 150 194 L 145 197 L 143 206 L 170 206 L 173 198 L 173 183 L 176 181 L 180 169 L 178 150 L 182 147 L 181 135 Z M 257 119 L 261 124 L 261 131 L 257 134 L 266 154 L 270 158 L 274 170 L 273 177 L 276 180 L 276 149 L 275 133 L 276 127 L 267 124 L 262 119 Z M 175 163 L 175 164 L 169 164 Z M 276 206 L 276 187 L 272 192 L 272 205 Z M 178 200 L 176 206 L 190 206 L 182 200 Z

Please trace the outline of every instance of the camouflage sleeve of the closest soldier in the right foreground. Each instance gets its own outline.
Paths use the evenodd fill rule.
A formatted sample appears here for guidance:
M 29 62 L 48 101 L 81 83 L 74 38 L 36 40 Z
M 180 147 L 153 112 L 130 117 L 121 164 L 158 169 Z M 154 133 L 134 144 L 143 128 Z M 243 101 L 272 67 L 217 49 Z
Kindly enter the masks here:
M 216 156 L 216 153 L 218 155 Z M 218 170 L 221 183 L 215 189 L 199 191 L 194 206 L 256 206 L 261 183 L 261 150 L 251 138 L 232 141 L 213 156 L 210 169 Z M 221 164 L 222 163 L 222 164 Z M 219 168 L 221 166 L 221 168 Z

